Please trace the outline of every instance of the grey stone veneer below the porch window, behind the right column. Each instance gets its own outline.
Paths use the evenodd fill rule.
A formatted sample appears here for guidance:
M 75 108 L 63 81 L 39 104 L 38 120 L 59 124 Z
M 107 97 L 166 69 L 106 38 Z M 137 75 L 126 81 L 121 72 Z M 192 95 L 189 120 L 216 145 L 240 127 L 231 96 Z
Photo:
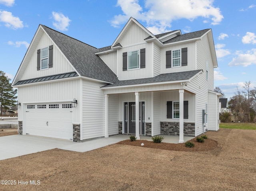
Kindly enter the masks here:
M 180 135 L 179 122 L 160 122 L 161 134 Z M 195 136 L 195 123 L 184 123 L 184 135 Z

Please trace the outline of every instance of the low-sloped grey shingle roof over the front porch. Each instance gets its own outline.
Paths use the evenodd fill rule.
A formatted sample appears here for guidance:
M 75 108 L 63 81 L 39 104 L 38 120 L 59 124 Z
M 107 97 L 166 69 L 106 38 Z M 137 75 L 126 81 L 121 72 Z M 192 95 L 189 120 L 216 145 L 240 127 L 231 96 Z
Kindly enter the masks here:
M 160 74 L 160 75 L 157 75 L 157 76 L 151 77 L 151 78 L 122 80 L 122 81 L 118 81 L 113 84 L 106 85 L 104 87 L 116 87 L 116 86 L 125 86 L 125 85 L 188 80 L 188 79 L 192 78 L 194 75 L 196 75 L 197 73 L 199 73 L 200 71 L 202 71 L 202 70 L 166 73 L 166 74 Z

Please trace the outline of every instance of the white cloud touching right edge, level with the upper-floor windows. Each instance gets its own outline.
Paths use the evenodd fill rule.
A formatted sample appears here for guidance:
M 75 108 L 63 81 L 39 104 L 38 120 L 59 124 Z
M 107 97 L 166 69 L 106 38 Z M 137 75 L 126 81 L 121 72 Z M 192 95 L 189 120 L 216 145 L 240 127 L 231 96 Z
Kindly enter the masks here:
M 249 66 L 252 64 L 256 64 L 256 49 L 252 49 L 243 53 L 242 51 L 236 51 L 237 57 L 233 58 L 233 60 L 228 63 L 229 66 Z

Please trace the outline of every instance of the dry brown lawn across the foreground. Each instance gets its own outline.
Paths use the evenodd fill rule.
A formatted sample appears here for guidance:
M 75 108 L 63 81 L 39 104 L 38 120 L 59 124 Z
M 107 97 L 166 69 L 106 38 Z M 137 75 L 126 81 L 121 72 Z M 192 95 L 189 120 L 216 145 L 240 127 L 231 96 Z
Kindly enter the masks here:
M 54 149 L 5 159 L 0 179 L 16 180 L 16 185 L 0 185 L 0 190 L 255 191 L 256 130 L 220 129 L 207 135 L 217 143 L 208 151 L 113 144 L 85 153 Z

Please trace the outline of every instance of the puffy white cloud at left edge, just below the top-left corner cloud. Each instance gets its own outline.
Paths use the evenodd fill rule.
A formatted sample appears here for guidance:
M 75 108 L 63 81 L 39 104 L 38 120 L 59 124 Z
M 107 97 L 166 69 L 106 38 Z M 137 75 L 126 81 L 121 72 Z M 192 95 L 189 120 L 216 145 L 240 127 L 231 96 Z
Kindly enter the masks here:
M 12 15 L 8 11 L 0 11 L 0 22 L 4 22 L 5 26 L 12 29 L 23 28 L 23 22 L 20 18 Z

